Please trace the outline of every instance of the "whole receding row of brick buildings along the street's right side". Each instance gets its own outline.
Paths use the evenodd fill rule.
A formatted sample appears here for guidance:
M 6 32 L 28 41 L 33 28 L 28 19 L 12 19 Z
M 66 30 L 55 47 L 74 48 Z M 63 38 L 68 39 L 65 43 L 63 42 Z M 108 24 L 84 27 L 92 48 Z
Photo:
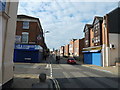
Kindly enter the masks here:
M 102 17 L 95 16 L 93 23 L 84 26 L 83 32 L 84 38 L 71 40 L 55 54 L 77 57 L 85 64 L 103 67 L 119 62 L 120 7 Z

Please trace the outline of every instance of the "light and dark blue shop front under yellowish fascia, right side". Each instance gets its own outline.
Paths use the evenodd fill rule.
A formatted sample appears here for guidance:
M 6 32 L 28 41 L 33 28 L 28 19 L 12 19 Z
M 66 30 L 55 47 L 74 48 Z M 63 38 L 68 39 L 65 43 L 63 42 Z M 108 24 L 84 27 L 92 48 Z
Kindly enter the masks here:
M 101 47 L 83 49 L 84 64 L 102 66 Z

